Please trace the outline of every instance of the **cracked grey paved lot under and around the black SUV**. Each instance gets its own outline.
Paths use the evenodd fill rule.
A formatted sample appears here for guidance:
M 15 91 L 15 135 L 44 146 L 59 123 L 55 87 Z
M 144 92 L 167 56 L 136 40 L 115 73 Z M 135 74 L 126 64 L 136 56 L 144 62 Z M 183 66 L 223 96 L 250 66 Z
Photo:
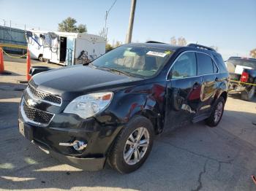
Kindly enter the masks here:
M 41 65 L 42 63 L 33 63 Z M 59 67 L 56 65 L 48 65 Z M 256 101 L 230 95 L 217 128 L 203 122 L 158 136 L 138 171 L 108 166 L 86 172 L 59 163 L 18 133 L 18 103 L 25 63 L 6 62 L 0 75 L 0 189 L 2 190 L 256 190 Z

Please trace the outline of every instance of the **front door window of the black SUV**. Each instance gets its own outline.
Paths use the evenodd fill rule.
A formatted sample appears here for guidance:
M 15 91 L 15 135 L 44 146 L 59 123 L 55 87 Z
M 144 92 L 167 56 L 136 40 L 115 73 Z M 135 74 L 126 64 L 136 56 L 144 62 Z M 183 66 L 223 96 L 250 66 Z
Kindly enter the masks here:
M 197 75 L 197 61 L 195 52 L 185 52 L 174 63 L 171 72 L 172 79 L 194 77 Z

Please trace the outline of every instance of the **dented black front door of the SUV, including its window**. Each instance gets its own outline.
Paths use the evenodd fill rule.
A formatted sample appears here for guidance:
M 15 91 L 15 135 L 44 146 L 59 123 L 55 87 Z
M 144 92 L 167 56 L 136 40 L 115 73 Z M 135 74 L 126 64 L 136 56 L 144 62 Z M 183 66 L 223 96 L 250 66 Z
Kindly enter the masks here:
M 195 52 L 182 52 L 167 76 L 165 130 L 191 121 L 200 106 L 203 77 L 197 76 Z

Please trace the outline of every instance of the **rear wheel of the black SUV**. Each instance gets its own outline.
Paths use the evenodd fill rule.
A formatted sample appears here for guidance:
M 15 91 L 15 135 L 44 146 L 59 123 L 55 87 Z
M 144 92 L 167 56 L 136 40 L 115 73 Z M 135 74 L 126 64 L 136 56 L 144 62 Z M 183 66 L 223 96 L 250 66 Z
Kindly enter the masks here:
M 211 112 L 210 117 L 206 119 L 206 125 L 213 128 L 219 124 L 220 120 L 222 120 L 224 106 L 225 106 L 225 99 L 221 96 L 217 99 L 216 103 L 214 104 L 214 109 Z

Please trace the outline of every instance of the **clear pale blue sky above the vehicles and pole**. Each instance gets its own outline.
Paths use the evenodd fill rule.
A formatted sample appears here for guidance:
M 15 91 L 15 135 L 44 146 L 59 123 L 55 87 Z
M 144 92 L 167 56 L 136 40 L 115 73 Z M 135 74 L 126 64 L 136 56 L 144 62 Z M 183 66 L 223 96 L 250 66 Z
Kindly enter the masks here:
M 56 31 L 58 23 L 74 17 L 86 24 L 89 34 L 99 34 L 105 11 L 114 0 L 0 0 L 0 25 Z M 117 0 L 108 17 L 108 39 L 125 42 L 130 0 Z M 151 39 L 170 42 L 184 36 L 187 42 L 214 45 L 227 59 L 249 56 L 256 48 L 255 0 L 138 0 L 132 42 Z

